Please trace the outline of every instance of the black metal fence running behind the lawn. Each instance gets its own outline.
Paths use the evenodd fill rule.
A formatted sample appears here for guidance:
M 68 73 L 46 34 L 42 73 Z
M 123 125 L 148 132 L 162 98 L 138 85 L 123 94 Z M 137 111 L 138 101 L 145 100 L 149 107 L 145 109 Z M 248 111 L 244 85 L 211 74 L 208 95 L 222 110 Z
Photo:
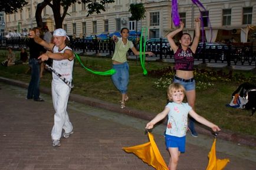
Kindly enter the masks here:
M 0 47 L 27 48 L 27 38 L 0 38 Z M 134 46 L 139 50 L 140 42 L 133 42 Z M 144 48 L 144 42 L 142 43 Z M 146 42 L 146 51 L 152 51 L 155 57 L 159 59 L 173 59 L 173 51 L 166 42 Z M 114 42 L 109 39 L 70 39 L 70 46 L 74 51 L 94 52 L 95 54 L 105 54 L 111 56 L 114 52 Z M 143 49 L 142 48 L 142 49 Z M 231 65 L 250 65 L 256 68 L 256 49 L 251 44 L 201 44 L 198 46 L 195 60 L 206 62 L 224 63 Z M 131 50 L 129 55 L 133 55 Z

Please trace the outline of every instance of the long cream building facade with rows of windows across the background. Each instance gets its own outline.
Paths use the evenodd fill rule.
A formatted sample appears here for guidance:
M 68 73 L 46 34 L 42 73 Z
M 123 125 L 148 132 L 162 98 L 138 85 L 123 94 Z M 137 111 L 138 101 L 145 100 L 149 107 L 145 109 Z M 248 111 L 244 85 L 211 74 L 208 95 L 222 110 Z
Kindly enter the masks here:
M 25 32 L 36 26 L 35 9 L 42 0 L 31 0 L 29 4 L 15 14 L 5 15 L 5 31 Z M 146 17 L 137 22 L 137 29 L 147 28 L 147 37 L 165 37 L 175 29 L 172 22 L 172 1 L 170 0 L 116 0 L 106 5 L 106 11 L 88 17 L 86 4 L 73 4 L 68 9 L 63 28 L 68 35 L 76 37 L 97 34 L 109 34 L 123 27 L 136 29 L 136 21 L 130 21 L 130 4 L 143 3 Z M 202 38 L 204 41 L 227 42 L 233 38 L 236 42 L 252 41 L 251 34 L 256 32 L 255 0 L 201 0 L 205 9 L 193 5 L 191 0 L 178 1 L 180 19 L 185 22 L 185 32 L 193 36 L 195 18 L 202 14 Z M 209 21 L 207 22 L 207 16 Z M 55 29 L 51 8 L 46 6 L 42 19 L 50 31 Z M 203 39 L 202 39 L 203 41 Z

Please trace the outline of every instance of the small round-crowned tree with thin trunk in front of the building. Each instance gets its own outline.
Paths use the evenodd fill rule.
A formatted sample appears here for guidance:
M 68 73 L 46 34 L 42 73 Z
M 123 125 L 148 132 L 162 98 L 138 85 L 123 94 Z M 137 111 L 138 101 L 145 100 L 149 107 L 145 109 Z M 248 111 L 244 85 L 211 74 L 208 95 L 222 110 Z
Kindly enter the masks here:
M 130 9 L 129 11 L 131 12 L 132 16 L 130 17 L 131 21 L 136 21 L 136 38 L 137 38 L 137 22 L 140 19 L 145 18 L 145 12 L 146 9 L 144 8 L 143 4 L 130 4 Z

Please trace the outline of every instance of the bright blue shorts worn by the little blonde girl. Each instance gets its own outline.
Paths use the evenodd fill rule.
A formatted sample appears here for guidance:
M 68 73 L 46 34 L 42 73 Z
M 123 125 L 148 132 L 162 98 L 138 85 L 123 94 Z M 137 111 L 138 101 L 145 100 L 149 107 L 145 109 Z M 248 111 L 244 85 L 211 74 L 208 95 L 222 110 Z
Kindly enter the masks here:
M 177 137 L 165 134 L 165 145 L 166 149 L 178 148 L 180 153 L 184 153 L 186 146 L 186 136 Z

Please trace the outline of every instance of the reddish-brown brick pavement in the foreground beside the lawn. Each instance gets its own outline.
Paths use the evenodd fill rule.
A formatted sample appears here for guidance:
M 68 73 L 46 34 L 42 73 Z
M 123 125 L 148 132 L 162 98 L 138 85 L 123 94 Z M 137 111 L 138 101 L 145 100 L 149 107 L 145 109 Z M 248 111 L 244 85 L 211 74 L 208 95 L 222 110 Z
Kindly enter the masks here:
M 54 109 L 51 96 L 42 94 L 45 102 L 25 99 L 27 89 L 0 83 L 0 169 L 66 170 L 66 169 L 154 169 L 124 146 L 148 141 L 145 120 L 105 109 L 93 108 L 72 99 L 68 105 L 74 134 L 61 139 L 61 146 L 51 146 Z M 166 162 L 169 160 L 162 136 L 165 125 L 153 130 L 155 141 Z M 208 152 L 214 138 L 200 134 L 187 135 L 186 153 L 180 156 L 179 170 L 201 170 L 208 164 Z M 229 158 L 225 169 L 251 170 L 256 167 L 256 149 L 217 139 L 217 156 Z

